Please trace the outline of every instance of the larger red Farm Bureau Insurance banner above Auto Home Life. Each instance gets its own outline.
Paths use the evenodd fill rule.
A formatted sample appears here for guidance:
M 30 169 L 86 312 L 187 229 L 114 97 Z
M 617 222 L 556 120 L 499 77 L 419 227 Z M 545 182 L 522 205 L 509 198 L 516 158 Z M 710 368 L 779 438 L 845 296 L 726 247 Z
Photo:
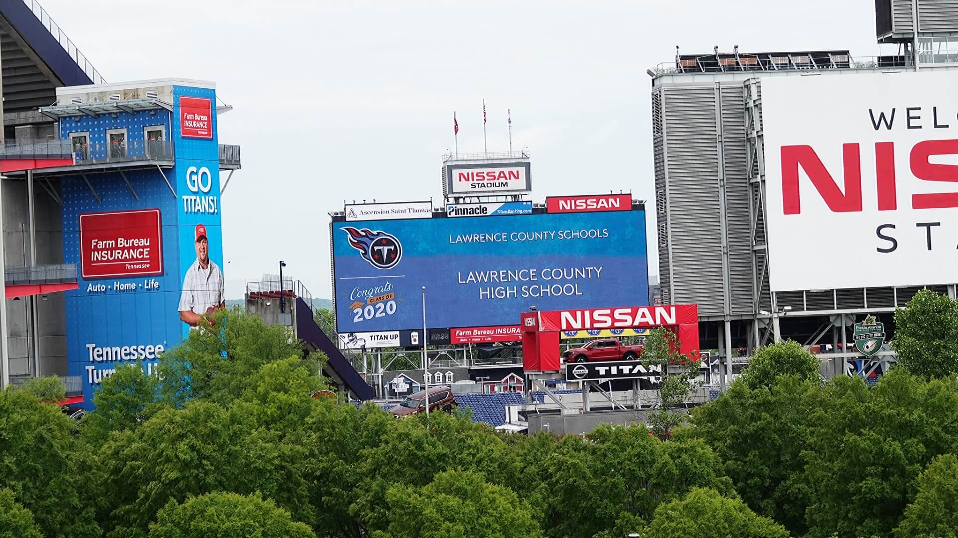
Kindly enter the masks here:
M 163 274 L 160 210 L 80 215 L 83 279 Z

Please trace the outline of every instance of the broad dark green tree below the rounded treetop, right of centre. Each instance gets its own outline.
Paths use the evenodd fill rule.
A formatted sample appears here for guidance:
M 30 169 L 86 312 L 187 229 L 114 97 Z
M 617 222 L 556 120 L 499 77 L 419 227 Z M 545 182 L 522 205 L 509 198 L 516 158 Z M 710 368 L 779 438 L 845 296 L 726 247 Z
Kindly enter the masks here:
M 821 383 L 783 375 L 750 388 L 746 378 L 692 415 L 690 434 L 725 462 L 745 504 L 799 535 L 811 501 L 802 452 L 821 405 Z

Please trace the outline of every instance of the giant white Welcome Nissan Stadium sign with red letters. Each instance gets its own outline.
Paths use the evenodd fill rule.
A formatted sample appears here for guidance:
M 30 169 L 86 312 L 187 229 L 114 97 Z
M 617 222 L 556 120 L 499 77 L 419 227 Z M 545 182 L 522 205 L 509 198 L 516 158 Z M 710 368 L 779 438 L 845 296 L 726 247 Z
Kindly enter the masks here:
M 772 291 L 958 281 L 958 73 L 762 79 Z

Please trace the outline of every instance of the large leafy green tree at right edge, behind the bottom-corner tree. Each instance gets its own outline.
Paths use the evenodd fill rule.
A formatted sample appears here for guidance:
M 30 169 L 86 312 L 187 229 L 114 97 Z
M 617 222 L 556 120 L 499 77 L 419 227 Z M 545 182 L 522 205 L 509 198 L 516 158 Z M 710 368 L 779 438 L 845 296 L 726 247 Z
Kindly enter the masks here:
M 958 446 L 958 381 L 892 369 L 868 389 L 839 376 L 820 400 L 803 453 L 810 536 L 888 536 L 919 473 Z

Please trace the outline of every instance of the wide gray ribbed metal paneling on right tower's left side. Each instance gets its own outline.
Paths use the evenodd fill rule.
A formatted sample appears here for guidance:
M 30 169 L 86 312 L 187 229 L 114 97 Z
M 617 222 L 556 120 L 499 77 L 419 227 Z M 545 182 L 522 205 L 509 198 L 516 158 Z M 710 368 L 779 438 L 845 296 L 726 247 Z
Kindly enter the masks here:
M 716 107 L 714 84 L 662 88 L 669 301 L 700 315 L 724 313 Z

